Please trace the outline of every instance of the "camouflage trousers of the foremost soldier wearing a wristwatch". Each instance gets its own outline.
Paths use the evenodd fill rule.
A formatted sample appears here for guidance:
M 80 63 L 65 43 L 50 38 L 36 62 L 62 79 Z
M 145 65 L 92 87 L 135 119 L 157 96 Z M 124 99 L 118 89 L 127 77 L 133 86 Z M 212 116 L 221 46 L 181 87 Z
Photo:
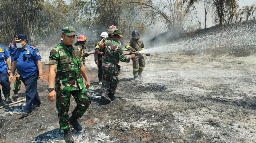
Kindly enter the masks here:
M 68 129 L 70 125 L 68 113 L 71 95 L 73 95 L 77 104 L 72 112 L 74 118 L 81 118 L 91 104 L 91 99 L 88 97 L 85 88 L 69 92 L 57 92 L 56 107 L 61 129 Z

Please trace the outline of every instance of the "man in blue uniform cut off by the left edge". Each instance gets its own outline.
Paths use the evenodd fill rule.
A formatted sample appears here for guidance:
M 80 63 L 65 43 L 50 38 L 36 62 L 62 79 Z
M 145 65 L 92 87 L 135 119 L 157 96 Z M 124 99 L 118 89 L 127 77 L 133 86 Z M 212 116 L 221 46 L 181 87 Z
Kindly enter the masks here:
M 0 84 L 2 85 L 2 91 L 4 94 L 5 102 L 11 103 L 10 99 L 10 83 L 8 82 L 8 76 L 11 73 L 11 63 L 9 53 L 4 46 L 0 46 Z M 3 105 L 2 95 L 0 90 L 0 106 Z

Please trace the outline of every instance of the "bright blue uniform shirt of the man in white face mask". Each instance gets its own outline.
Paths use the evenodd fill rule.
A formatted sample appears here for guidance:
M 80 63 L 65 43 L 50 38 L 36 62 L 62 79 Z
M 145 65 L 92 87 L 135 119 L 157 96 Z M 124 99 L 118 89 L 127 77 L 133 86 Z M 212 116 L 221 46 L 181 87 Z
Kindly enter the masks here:
M 17 61 L 16 68 L 22 78 L 27 78 L 38 72 L 36 61 L 40 60 L 41 56 L 34 46 L 25 46 L 15 50 L 13 61 Z

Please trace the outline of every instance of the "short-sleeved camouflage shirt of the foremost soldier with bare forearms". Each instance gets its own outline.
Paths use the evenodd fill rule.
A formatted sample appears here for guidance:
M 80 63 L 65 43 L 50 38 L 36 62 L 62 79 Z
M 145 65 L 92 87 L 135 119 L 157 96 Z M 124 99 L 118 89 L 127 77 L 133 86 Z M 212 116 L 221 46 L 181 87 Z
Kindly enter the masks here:
M 55 88 L 57 91 L 73 91 L 84 88 L 80 68 L 82 66 L 81 49 L 71 45 L 67 48 L 62 42 L 50 52 L 49 64 L 57 65 Z

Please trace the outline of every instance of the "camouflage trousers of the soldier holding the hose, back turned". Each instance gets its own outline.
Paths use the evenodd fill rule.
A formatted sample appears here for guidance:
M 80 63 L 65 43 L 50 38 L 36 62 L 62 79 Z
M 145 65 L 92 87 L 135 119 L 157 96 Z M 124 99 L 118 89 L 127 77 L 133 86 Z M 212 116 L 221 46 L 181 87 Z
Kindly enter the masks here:
M 107 64 L 103 64 L 102 71 L 106 79 L 103 89 L 109 89 L 109 92 L 113 93 L 118 84 L 118 69 L 116 66 L 109 67 Z

